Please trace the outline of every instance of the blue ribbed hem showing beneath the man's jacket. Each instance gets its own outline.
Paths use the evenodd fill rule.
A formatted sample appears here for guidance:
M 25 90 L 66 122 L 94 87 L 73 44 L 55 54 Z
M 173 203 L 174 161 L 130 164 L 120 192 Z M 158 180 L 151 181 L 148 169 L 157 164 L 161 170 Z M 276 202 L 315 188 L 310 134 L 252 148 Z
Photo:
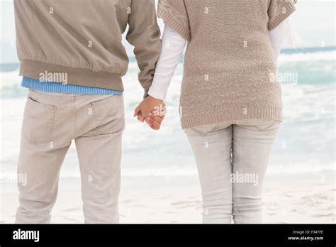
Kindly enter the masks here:
M 78 85 L 62 84 L 60 82 L 40 82 L 38 79 L 28 77 L 23 77 L 21 86 L 43 92 L 58 92 L 66 94 L 123 94 L 121 91 L 111 89 L 83 87 Z

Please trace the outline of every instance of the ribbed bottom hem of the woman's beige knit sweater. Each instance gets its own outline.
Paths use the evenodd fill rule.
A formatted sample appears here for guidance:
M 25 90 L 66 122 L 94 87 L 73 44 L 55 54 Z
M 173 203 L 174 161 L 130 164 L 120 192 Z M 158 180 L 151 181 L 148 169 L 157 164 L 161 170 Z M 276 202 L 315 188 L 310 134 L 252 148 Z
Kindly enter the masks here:
M 200 115 L 181 115 L 181 126 L 183 129 L 203 126 L 208 124 L 218 124 L 224 121 L 234 121 L 243 119 L 267 119 L 282 121 L 282 109 L 274 106 L 248 108 L 247 114 L 243 114 L 243 109 L 215 109 Z

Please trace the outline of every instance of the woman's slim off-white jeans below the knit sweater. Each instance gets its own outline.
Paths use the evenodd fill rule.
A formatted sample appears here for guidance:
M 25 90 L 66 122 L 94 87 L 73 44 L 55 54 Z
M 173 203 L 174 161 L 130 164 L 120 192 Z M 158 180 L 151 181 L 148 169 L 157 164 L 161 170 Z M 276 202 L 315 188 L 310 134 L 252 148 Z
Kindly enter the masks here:
M 262 182 L 280 122 L 245 120 L 186 129 L 203 197 L 203 223 L 262 222 Z

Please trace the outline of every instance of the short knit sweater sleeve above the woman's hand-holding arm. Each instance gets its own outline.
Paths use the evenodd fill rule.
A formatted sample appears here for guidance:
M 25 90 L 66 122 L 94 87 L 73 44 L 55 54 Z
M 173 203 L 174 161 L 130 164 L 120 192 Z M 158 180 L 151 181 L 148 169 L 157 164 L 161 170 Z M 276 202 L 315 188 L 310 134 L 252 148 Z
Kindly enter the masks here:
M 159 0 L 157 16 L 182 38 L 190 40 L 190 23 L 184 0 Z

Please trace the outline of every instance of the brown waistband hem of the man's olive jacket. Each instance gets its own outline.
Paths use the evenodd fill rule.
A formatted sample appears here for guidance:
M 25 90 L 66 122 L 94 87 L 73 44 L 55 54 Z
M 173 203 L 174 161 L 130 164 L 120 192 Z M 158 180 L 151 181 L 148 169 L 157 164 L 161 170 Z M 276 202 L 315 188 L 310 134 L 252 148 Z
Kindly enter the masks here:
M 45 62 L 35 62 L 31 60 L 20 61 L 20 75 L 40 79 L 40 74 L 46 72 L 52 74 L 67 74 L 67 84 L 79 85 L 84 87 L 99 87 L 123 91 L 121 75 L 108 72 L 94 72 L 81 68 L 52 65 Z

